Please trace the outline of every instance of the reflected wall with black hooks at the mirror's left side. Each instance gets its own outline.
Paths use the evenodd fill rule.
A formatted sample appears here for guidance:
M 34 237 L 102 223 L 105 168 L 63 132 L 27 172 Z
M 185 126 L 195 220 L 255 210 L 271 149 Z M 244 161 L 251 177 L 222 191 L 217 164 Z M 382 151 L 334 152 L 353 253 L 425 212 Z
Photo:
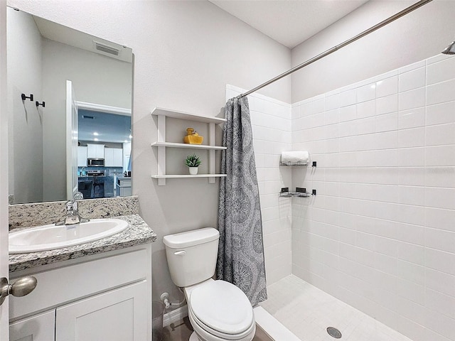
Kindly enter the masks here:
M 9 194 L 14 202 L 42 201 L 43 117 L 35 105 L 43 94 L 41 35 L 31 16 L 7 13 Z M 23 102 L 22 93 L 33 94 L 33 102 Z

